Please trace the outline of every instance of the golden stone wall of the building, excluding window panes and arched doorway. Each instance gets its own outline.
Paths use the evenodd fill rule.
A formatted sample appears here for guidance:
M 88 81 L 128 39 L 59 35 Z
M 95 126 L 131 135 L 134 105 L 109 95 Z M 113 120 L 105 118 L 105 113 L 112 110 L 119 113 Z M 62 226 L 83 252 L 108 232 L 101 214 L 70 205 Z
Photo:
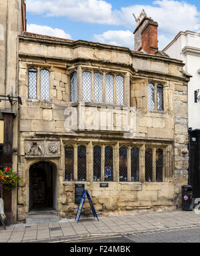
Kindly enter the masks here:
M 55 42 L 50 39 L 20 37 L 19 95 L 23 105 L 20 108 L 20 136 L 18 163 L 19 174 L 19 220 L 29 212 L 29 168 L 41 160 L 53 162 L 57 166 L 57 211 L 62 217 L 75 217 L 74 182 L 65 181 L 65 146 L 75 146 L 75 173 L 77 173 L 77 145 L 87 146 L 87 181 L 85 188 L 95 204 L 99 215 L 119 213 L 140 213 L 173 209 L 179 205 L 180 188 L 187 182 L 187 78 L 181 73 L 183 63 L 167 57 L 157 57 L 143 53 L 133 53 L 127 48 L 97 45 L 79 41 Z M 40 53 L 38 55 L 38 53 Z M 50 100 L 27 99 L 27 69 L 47 68 L 50 72 Z M 125 107 L 135 111 L 134 132 L 119 130 L 99 131 L 96 127 L 88 130 L 65 130 L 65 108 L 81 110 L 82 70 L 101 70 L 125 76 Z M 79 102 L 69 102 L 69 75 L 78 72 Z M 147 108 L 148 83 L 162 84 L 164 88 L 164 111 L 149 111 Z M 131 84 L 131 88 L 129 88 Z M 130 100 L 131 99 L 131 103 Z M 87 112 L 95 108 L 116 108 L 116 105 L 86 105 Z M 122 108 L 122 107 L 121 107 Z M 98 111 L 99 111 L 98 109 Z M 84 110 L 85 111 L 85 110 Z M 83 112 L 84 112 L 83 111 Z M 121 110 L 119 110 L 120 112 Z M 90 116 L 88 116 L 90 118 Z M 107 122 L 109 116 L 104 115 Z M 115 123 L 120 113 L 115 116 Z M 131 118 L 129 118 L 131 119 Z M 87 118 L 86 118 L 87 120 Z M 131 125 L 132 126 L 132 125 Z M 60 154 L 27 154 L 27 144 L 45 145 L 54 140 L 60 144 Z M 115 162 L 114 182 L 108 188 L 100 188 L 93 182 L 93 145 L 112 145 Z M 119 146 L 140 148 L 140 182 L 119 181 Z M 44 146 L 45 147 L 45 146 Z M 163 182 L 145 182 L 145 148 L 153 148 L 153 172 L 155 173 L 155 150 L 164 150 Z M 29 151 L 28 151 L 29 152 Z M 130 171 L 130 162 L 128 164 Z M 102 170 L 104 172 L 104 170 Z M 76 174 L 75 174 L 76 175 Z M 154 174 L 155 179 L 155 174 Z M 155 181 L 155 180 L 154 180 Z M 86 203 L 84 209 L 89 204 Z M 85 214 L 87 210 L 85 210 Z

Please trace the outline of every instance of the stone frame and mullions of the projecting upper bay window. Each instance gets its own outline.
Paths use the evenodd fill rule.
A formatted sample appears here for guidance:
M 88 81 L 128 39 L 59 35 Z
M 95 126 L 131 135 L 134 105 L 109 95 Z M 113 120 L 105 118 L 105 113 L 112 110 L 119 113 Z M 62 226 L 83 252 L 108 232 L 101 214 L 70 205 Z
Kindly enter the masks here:
M 127 102 L 129 101 L 129 99 L 125 99 L 125 80 L 126 80 L 126 75 L 127 72 L 119 72 L 119 71 L 115 71 L 115 70 L 104 70 L 104 69 L 99 69 L 99 68 L 87 68 L 87 67 L 81 67 L 78 66 L 77 68 L 73 68 L 70 70 L 70 72 L 68 73 L 69 75 L 69 80 L 68 80 L 68 84 L 70 85 L 70 76 L 71 74 L 73 74 L 73 72 L 77 72 L 77 77 L 78 77 L 78 82 L 77 82 L 77 86 L 78 86 L 78 100 L 77 102 L 83 102 L 83 72 L 89 72 L 91 73 L 91 100 L 90 101 L 85 101 L 85 102 L 93 102 L 93 103 L 97 103 L 97 104 L 107 104 L 107 105 L 115 105 L 115 106 L 127 106 L 129 105 Z M 99 73 L 103 75 L 103 95 L 102 95 L 102 102 L 95 102 L 95 84 L 94 84 L 94 76 L 95 73 Z M 110 74 L 113 76 L 113 103 L 109 103 L 106 102 L 106 96 L 105 96 L 105 78 L 106 75 Z M 116 84 L 116 79 L 117 76 L 121 76 L 123 77 L 123 104 L 117 104 L 117 84 Z M 69 87 L 68 87 L 69 88 Z M 69 94 L 69 102 L 71 102 L 71 96 L 70 96 L 70 88 L 68 90 L 68 94 Z M 71 102 L 72 103 L 72 102 Z

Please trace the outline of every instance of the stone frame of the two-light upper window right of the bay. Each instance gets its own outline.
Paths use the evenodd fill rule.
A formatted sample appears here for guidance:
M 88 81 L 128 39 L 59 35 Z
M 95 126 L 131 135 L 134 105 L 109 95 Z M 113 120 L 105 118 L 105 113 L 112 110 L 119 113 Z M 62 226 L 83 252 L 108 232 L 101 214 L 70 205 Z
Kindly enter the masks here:
M 153 86 L 154 86 L 154 104 L 155 104 L 154 110 L 149 109 L 149 96 L 148 96 L 149 84 L 153 84 Z M 163 86 L 163 110 L 158 110 L 158 108 L 157 108 L 157 86 Z M 147 83 L 147 110 L 149 112 L 157 112 L 157 113 L 166 112 L 167 106 L 165 104 L 165 99 L 167 97 L 165 96 L 165 87 L 166 87 L 166 82 L 163 82 L 163 81 L 159 82 L 159 81 L 155 81 L 155 80 L 148 81 L 148 83 Z

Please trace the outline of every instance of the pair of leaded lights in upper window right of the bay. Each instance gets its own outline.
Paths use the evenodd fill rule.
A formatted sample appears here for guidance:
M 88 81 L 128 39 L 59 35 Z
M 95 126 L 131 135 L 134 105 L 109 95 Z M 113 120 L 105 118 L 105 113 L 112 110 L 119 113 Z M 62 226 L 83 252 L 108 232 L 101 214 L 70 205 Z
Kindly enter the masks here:
M 164 110 L 163 86 L 161 84 L 148 84 L 148 109 Z

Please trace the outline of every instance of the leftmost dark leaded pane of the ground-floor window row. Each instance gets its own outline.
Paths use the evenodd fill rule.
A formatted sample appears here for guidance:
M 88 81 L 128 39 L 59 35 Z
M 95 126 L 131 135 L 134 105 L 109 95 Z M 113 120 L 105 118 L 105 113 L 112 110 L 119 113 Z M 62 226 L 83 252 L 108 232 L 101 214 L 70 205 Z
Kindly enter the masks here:
M 73 146 L 69 145 L 65 148 L 65 180 L 73 180 L 74 154 Z

